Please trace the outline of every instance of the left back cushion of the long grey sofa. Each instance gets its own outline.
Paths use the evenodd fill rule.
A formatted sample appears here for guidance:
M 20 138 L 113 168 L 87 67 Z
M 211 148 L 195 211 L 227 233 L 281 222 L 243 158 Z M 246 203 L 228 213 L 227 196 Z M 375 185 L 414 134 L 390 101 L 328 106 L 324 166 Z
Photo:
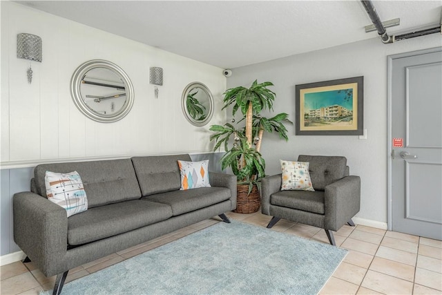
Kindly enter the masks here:
M 141 198 L 131 159 L 40 164 L 34 169 L 37 193 L 46 197 L 46 171 L 77 171 L 88 196 L 88 208 Z

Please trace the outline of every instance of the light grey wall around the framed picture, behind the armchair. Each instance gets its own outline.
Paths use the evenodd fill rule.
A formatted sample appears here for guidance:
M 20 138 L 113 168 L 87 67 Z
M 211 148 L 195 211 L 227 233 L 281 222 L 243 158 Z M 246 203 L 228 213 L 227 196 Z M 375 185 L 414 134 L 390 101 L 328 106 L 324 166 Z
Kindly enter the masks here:
M 301 41 L 301 40 L 300 40 Z M 353 44 L 294 55 L 262 64 L 234 68 L 227 87 L 247 86 L 254 79 L 275 84 L 276 113 L 289 113 L 295 123 L 295 86 L 309 82 L 364 76 L 364 128 L 367 140 L 358 136 L 295 135 L 289 126 L 289 142 L 266 134 L 261 151 L 268 175 L 280 173 L 279 161 L 296 160 L 300 154 L 344 155 L 350 172 L 361 176 L 360 220 L 387 222 L 387 56 L 441 46 L 441 35 L 433 34 L 395 44 L 369 39 Z M 228 115 L 230 113 L 228 112 Z

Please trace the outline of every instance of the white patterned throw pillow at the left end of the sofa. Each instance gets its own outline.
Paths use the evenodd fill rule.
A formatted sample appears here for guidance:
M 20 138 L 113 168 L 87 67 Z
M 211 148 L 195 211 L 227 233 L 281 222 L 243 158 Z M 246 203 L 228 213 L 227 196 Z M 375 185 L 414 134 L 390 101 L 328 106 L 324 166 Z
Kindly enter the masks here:
M 70 173 L 46 171 L 44 181 L 48 200 L 66 209 L 68 217 L 88 209 L 86 191 L 77 171 Z

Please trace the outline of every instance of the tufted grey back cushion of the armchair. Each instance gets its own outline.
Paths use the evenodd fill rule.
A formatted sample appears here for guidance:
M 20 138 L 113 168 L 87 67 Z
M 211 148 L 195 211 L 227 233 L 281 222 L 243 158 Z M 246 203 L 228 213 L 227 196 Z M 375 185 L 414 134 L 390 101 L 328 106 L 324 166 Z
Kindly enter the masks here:
M 299 162 L 309 162 L 311 184 L 315 191 L 324 191 L 327 185 L 347 174 L 347 158 L 329 155 L 299 155 Z

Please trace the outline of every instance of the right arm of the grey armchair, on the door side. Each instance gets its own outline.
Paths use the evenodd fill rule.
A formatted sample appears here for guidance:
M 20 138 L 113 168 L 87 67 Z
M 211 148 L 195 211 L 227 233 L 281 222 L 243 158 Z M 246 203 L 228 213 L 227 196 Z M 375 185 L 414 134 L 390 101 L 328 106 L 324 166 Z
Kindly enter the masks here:
M 337 231 L 361 207 L 361 178 L 350 175 L 325 187 L 325 229 Z

